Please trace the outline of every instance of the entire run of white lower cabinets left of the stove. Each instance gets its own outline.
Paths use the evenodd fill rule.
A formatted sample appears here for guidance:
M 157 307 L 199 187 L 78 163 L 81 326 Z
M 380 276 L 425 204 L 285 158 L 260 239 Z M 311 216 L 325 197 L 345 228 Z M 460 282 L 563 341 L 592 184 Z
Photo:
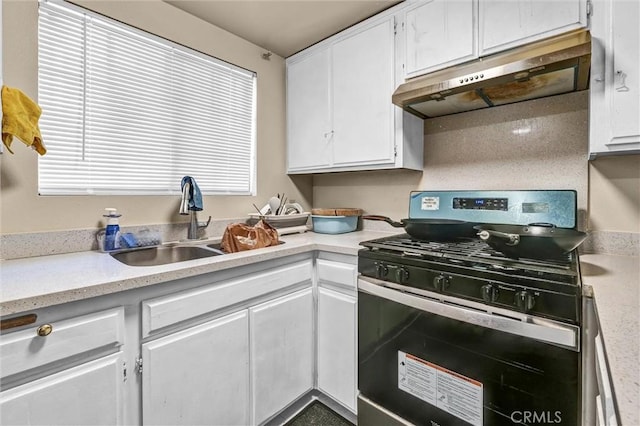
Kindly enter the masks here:
M 305 254 L 34 312 L 0 339 L 0 424 L 261 425 L 316 371 L 355 412 L 356 258 L 320 257 L 317 305 Z

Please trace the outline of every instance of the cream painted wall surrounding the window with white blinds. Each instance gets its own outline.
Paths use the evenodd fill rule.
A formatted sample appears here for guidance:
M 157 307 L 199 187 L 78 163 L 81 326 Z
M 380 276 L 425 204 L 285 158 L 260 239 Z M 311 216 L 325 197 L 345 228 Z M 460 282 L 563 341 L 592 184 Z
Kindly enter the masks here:
M 311 206 L 311 178 L 285 173 L 285 65 L 276 55 L 158 0 L 81 0 L 99 13 L 256 71 L 257 196 L 205 196 L 201 218 L 242 217 L 276 192 L 285 192 L 304 207 Z M 35 0 L 3 1 L 4 83 L 37 100 L 37 19 Z M 45 140 L 46 143 L 46 140 Z M 0 156 L 0 231 L 3 234 L 100 226 L 105 207 L 117 207 L 123 225 L 188 221 L 178 212 L 177 196 L 39 196 L 37 154 L 14 141 L 15 155 Z

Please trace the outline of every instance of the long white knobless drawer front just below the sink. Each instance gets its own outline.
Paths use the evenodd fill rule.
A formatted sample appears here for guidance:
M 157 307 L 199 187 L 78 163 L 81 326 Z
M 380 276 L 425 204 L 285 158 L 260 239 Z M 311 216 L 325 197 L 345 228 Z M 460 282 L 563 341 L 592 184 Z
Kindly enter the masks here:
M 156 330 L 305 281 L 311 260 L 142 302 L 142 337 Z

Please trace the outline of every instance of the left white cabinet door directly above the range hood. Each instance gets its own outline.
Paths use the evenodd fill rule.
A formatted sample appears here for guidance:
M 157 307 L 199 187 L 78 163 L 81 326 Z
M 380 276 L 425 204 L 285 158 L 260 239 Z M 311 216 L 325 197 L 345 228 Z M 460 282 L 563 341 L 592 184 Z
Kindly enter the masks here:
M 474 0 L 431 0 L 405 12 L 405 77 L 477 57 Z

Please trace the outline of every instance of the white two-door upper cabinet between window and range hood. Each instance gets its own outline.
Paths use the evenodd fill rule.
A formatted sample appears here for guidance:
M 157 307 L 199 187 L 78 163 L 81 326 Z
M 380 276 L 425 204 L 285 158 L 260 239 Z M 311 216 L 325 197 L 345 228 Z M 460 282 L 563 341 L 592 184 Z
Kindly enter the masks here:
M 422 170 L 423 122 L 391 103 L 395 17 L 377 16 L 287 59 L 287 172 Z

